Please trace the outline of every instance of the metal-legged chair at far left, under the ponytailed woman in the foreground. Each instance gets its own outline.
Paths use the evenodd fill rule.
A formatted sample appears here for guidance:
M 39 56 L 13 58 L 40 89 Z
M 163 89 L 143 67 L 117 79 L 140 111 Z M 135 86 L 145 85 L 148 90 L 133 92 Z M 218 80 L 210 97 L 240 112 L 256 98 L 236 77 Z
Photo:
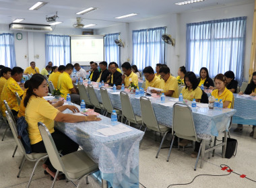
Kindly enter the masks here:
M 20 167 L 19 167 L 20 171 L 19 171 L 17 177 L 20 177 L 20 173 L 22 171 L 24 162 L 26 160 L 36 162 L 36 164 L 34 165 L 34 169 L 32 171 L 32 174 L 30 176 L 30 180 L 28 181 L 28 186 L 27 186 L 27 188 L 28 188 L 28 187 L 30 187 L 30 183 L 31 183 L 32 177 L 34 175 L 34 172 L 36 170 L 36 167 L 38 165 L 38 162 L 40 162 L 40 160 L 42 160 L 44 158 L 47 158 L 48 155 L 46 153 L 35 153 L 35 152 L 32 152 L 30 154 L 26 154 L 26 150 L 25 150 L 25 148 L 22 144 L 22 140 L 18 139 L 18 131 L 17 131 L 17 128 L 15 126 L 15 122 L 12 120 L 11 115 L 8 113 L 8 111 L 5 111 L 5 113 L 6 113 L 7 121 L 9 122 L 9 126 L 11 127 L 11 132 L 13 133 L 15 142 L 18 145 L 18 148 L 20 148 L 20 150 L 22 151 L 22 154 L 23 154 L 22 162 L 21 162 Z

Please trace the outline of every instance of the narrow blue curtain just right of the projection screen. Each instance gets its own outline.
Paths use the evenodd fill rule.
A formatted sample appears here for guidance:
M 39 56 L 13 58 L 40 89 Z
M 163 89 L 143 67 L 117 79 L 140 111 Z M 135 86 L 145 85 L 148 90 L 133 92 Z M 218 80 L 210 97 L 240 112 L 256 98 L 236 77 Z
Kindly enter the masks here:
M 117 62 L 120 66 L 120 47 L 115 44 L 115 39 L 119 39 L 119 33 L 106 34 L 104 37 L 105 61 Z

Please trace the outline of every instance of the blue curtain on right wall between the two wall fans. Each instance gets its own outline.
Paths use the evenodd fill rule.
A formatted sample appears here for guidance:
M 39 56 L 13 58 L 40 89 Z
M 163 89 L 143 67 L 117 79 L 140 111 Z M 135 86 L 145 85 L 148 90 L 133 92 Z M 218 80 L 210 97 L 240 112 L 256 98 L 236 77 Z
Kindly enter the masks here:
M 164 27 L 133 30 L 133 64 L 136 64 L 140 71 L 146 66 L 154 68 L 158 63 L 165 63 L 165 46 L 162 40 L 164 33 Z

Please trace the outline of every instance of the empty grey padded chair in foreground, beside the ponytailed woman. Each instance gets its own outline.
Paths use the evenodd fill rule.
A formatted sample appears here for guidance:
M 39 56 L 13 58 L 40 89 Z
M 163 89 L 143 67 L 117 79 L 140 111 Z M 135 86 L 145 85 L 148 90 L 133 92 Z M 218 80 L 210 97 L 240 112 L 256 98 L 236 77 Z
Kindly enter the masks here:
M 53 167 L 57 169 L 52 188 L 55 185 L 59 171 L 63 172 L 66 178 L 70 181 L 80 180 L 75 187 L 79 187 L 79 184 L 84 177 L 86 177 L 86 183 L 88 183 L 88 175 L 98 171 L 98 165 L 93 162 L 83 150 L 60 156 L 53 137 L 46 126 L 41 122 L 38 122 L 38 128 L 51 163 L 53 164 Z

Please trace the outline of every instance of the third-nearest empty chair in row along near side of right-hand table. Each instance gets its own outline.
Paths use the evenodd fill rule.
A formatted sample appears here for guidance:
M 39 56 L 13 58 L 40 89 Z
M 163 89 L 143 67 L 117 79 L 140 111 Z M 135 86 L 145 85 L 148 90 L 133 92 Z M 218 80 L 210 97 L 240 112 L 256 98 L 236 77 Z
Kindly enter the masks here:
M 139 116 L 134 115 L 133 107 L 131 106 L 129 95 L 125 93 L 125 91 L 120 92 L 120 99 L 121 99 L 121 107 L 122 107 L 121 122 L 123 123 L 123 118 L 126 118 L 125 124 L 128 121 L 129 126 L 131 126 L 131 122 L 133 124 L 142 124 L 142 119 Z

